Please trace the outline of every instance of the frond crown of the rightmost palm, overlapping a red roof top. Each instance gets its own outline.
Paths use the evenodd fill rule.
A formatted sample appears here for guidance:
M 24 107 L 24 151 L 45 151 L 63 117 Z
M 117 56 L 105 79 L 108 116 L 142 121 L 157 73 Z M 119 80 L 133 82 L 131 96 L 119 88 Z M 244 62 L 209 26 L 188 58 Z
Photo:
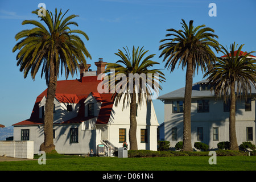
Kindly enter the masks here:
M 242 44 L 238 49 L 235 43 L 228 48 L 221 46 L 221 52 L 226 57 L 220 57 L 218 62 L 214 64 L 212 69 L 205 73 L 204 77 L 208 77 L 212 90 L 216 97 L 224 97 L 226 101 L 230 95 L 230 87 L 233 82 L 237 85 L 237 96 L 246 97 L 248 92 L 251 92 L 251 85 L 255 86 L 256 82 L 256 60 L 250 57 L 253 52 L 241 55 Z M 237 51 L 236 51 L 237 49 Z

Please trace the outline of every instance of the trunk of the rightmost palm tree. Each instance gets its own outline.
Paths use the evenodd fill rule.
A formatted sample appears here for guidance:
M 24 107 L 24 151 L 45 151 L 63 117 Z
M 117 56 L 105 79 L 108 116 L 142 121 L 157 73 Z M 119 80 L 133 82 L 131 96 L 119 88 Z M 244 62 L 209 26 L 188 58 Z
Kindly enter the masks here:
M 236 135 L 236 95 L 234 81 L 232 82 L 230 88 L 229 142 L 230 150 L 239 150 Z

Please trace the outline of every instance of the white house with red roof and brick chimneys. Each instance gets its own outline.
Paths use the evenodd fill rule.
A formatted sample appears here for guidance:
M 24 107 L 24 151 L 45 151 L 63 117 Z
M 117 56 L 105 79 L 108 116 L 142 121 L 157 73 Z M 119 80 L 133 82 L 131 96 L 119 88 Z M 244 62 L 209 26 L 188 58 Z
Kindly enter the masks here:
M 124 141 L 129 148 L 130 108 L 122 110 L 122 102 L 114 106 L 111 93 L 100 94 L 97 75 L 105 71 L 105 62 L 98 61 L 97 71 L 81 69 L 76 80 L 57 81 L 53 118 L 53 143 L 59 154 L 88 154 L 98 145 L 110 154 Z M 30 119 L 14 124 L 14 140 L 33 140 L 38 154 L 44 141 L 43 115 L 47 89 L 37 98 Z M 137 111 L 138 149 L 157 150 L 156 129 L 159 126 L 151 101 Z M 112 150 L 111 150 L 112 148 Z M 111 150 L 111 152 L 110 152 Z

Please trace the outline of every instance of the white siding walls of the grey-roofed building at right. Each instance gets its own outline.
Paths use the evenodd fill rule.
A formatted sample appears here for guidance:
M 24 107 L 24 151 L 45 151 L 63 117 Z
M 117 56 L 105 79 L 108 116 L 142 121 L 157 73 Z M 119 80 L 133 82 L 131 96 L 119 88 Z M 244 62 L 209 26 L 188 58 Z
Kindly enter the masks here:
M 197 113 L 197 100 L 209 100 L 209 112 Z M 164 137 L 170 141 L 171 147 L 183 140 L 183 113 L 172 113 L 172 102 L 181 99 L 165 100 L 164 102 Z M 172 140 L 172 127 L 177 127 L 177 140 Z M 197 128 L 203 127 L 204 139 L 197 140 Z M 213 127 L 218 127 L 218 140 L 213 140 Z M 251 111 L 245 111 L 245 100 L 237 100 L 236 134 L 240 145 L 246 141 L 246 127 L 253 127 L 255 144 L 255 100 L 251 101 Z M 223 100 L 214 98 L 192 98 L 191 104 L 191 137 L 192 147 L 195 142 L 209 144 L 209 148 L 217 148 L 218 142 L 229 141 L 229 112 L 224 112 Z

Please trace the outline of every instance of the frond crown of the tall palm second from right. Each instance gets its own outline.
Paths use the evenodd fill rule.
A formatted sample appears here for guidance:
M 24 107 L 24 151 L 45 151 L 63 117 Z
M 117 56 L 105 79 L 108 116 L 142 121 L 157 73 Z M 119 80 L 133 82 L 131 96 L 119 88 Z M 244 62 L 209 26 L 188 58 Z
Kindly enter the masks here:
M 168 42 L 159 47 L 159 50 L 163 49 L 159 57 L 164 56 L 165 67 L 171 68 L 171 72 L 174 71 L 178 61 L 178 65 L 181 64 L 182 69 L 184 69 L 189 58 L 193 60 L 192 68 L 194 74 L 199 67 L 201 67 L 202 71 L 205 71 L 205 64 L 209 66 L 216 60 L 216 56 L 210 47 L 218 51 L 219 44 L 214 39 L 218 38 L 218 36 L 212 34 L 211 32 L 214 32 L 214 30 L 205 27 L 204 24 L 194 27 L 193 20 L 189 21 L 189 26 L 183 19 L 182 22 L 183 30 L 167 29 L 171 33 L 166 36 L 174 36 L 174 38 L 160 40 L 160 42 Z

